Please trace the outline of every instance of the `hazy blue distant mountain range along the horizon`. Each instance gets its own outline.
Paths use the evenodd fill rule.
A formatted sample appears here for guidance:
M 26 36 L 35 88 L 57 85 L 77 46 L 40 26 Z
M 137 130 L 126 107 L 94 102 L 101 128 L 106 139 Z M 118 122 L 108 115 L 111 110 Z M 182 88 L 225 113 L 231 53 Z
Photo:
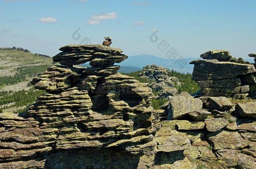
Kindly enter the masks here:
M 117 65 L 120 65 L 121 68 L 125 69 L 125 72 L 140 70 L 146 65 L 155 64 L 157 66 L 163 66 L 165 68 L 173 69 L 175 71 L 182 72 L 182 73 L 192 73 L 193 65 L 189 63 L 193 60 L 198 60 L 198 59 L 202 59 L 202 58 L 200 57 L 184 58 L 184 60 L 175 59 L 171 61 L 170 59 L 159 58 L 155 55 L 141 54 L 141 55 L 129 56 L 125 61 L 118 63 Z M 253 59 L 245 59 L 245 61 L 254 63 Z M 184 63 L 182 64 L 182 66 L 180 66 L 181 62 Z

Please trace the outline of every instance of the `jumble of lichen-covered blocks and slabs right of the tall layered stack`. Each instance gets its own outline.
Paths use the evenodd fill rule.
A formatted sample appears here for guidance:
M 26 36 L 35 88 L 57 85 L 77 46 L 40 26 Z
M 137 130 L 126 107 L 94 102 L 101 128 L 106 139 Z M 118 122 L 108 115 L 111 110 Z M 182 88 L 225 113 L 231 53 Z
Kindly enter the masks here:
M 167 105 L 162 106 L 164 121 L 159 121 L 162 127 L 154 136 L 172 136 L 171 143 L 165 142 L 165 151 L 183 150 L 198 168 L 256 168 L 256 101 L 234 106 L 226 97 L 192 98 L 182 92 Z M 174 120 L 165 121 L 166 116 Z M 179 146 L 171 146 L 175 139 Z

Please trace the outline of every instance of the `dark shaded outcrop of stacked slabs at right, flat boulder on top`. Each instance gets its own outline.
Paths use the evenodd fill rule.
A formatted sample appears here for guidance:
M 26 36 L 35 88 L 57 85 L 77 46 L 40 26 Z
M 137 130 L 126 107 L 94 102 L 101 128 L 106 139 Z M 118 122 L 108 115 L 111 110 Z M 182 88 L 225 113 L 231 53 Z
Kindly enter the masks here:
M 253 64 L 231 62 L 229 51 L 211 50 L 201 55 L 205 60 L 192 61 L 193 80 L 199 83 L 204 96 L 245 98 L 256 84 Z M 240 60 L 241 61 L 241 60 Z

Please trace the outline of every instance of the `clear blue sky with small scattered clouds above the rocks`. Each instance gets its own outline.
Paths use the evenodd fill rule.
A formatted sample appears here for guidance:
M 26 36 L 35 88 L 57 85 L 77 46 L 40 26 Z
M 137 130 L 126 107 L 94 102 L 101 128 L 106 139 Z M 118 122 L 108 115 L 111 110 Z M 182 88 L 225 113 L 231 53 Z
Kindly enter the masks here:
M 55 55 L 60 46 L 110 36 L 127 55 L 166 58 L 158 48 L 166 40 L 184 58 L 212 49 L 249 58 L 256 53 L 255 8 L 255 0 L 0 0 L 0 47 Z M 80 38 L 72 38 L 76 30 Z

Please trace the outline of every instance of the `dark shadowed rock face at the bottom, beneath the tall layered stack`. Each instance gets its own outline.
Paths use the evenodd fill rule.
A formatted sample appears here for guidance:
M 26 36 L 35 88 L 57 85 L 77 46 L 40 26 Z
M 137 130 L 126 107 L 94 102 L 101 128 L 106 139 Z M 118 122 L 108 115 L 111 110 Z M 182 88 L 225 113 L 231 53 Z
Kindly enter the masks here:
M 100 155 L 99 155 L 100 154 Z M 72 159 L 72 160 L 71 160 Z M 136 169 L 139 155 L 123 151 L 102 150 L 69 150 L 51 154 L 45 161 L 45 168 L 50 169 L 79 169 L 79 168 L 106 168 Z

